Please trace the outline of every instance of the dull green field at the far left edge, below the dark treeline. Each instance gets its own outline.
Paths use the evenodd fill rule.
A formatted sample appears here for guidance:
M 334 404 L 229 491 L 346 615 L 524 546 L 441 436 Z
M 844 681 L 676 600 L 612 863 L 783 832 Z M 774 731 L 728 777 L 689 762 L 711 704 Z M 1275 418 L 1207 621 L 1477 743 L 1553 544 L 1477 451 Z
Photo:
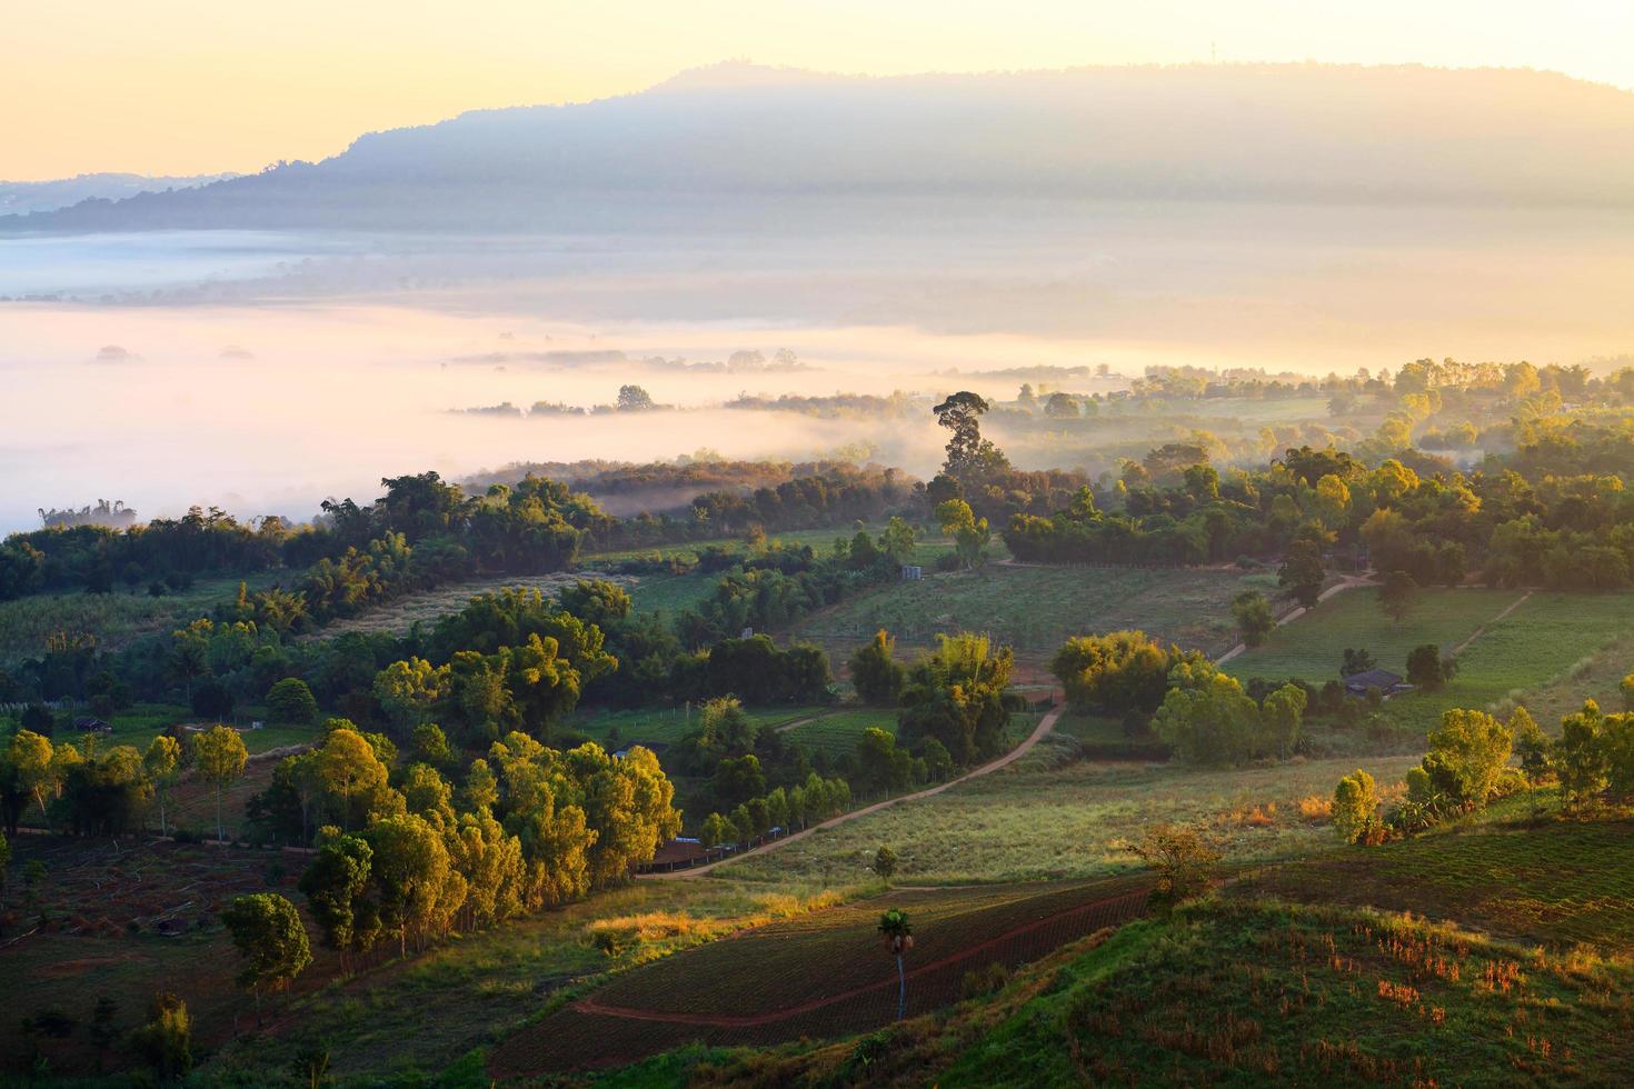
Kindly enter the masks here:
M 289 573 L 252 575 L 250 589 L 265 589 Z M 34 658 L 51 635 L 92 635 L 103 650 L 118 648 L 139 635 L 172 632 L 211 612 L 239 591 L 237 578 L 201 578 L 181 593 L 150 598 L 147 588 L 132 594 L 64 591 L 0 601 L 0 668 Z

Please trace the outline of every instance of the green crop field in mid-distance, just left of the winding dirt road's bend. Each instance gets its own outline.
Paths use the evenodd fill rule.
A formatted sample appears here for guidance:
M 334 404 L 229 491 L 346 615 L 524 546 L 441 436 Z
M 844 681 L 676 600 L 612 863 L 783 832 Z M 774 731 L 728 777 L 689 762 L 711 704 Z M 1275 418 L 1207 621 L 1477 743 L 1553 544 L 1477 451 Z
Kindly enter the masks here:
M 837 661 L 879 629 L 897 637 L 899 651 L 930 647 L 936 635 L 987 632 L 1034 661 L 1054 655 L 1069 635 L 1124 627 L 1221 653 L 1235 642 L 1230 601 L 1250 588 L 1271 593 L 1275 578 L 1224 568 L 989 563 L 894 583 L 804 619 L 791 635 Z

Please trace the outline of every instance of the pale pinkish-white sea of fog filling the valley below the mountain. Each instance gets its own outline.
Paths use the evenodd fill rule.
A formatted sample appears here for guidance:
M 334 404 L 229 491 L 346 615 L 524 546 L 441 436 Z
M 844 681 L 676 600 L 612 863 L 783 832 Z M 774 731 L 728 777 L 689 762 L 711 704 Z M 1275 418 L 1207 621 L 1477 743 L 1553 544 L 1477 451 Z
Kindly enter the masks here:
M 851 224 L 851 225 L 848 225 Z M 871 449 L 940 436 L 714 408 L 740 392 L 974 387 L 1106 362 L 1394 367 L 1634 351 L 1634 220 L 1572 209 L 913 204 L 732 233 L 379 237 L 162 232 L 0 238 L 0 531 L 124 500 L 307 518 L 389 473 L 709 447 Z M 652 367 L 794 351 L 806 369 Z M 562 362 L 552 353 L 623 353 Z M 688 411 L 502 420 L 609 403 Z

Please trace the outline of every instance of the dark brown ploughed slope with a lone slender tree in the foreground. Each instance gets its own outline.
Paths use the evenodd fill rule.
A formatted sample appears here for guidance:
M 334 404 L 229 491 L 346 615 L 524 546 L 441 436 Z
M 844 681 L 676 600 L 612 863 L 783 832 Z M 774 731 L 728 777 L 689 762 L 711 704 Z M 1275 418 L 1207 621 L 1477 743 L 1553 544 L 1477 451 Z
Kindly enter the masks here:
M 1013 967 L 1137 914 L 1142 882 L 899 890 L 775 922 L 614 976 L 505 1040 L 497 1076 L 629 1061 L 708 1038 L 770 1043 L 828 1037 L 895 1017 L 895 962 L 876 922 L 887 906 L 915 921 L 909 1011 L 961 996 L 966 971 Z

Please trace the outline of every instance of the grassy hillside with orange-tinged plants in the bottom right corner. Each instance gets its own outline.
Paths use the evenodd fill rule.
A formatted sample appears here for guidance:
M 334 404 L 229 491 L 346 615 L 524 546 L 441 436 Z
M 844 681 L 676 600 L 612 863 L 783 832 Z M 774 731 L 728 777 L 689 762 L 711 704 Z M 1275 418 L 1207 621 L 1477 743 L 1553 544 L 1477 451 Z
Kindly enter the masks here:
M 1629 981 L 1400 918 L 1206 903 L 1123 927 L 936 1082 L 1618 1084 Z

